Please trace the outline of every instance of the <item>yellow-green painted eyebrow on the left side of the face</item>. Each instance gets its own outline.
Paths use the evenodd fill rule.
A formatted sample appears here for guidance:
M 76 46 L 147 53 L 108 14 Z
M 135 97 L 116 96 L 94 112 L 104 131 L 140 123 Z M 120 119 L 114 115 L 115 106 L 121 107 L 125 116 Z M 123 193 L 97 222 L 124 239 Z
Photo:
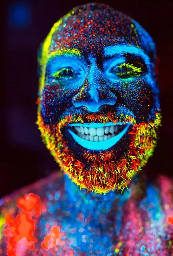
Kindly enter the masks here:
M 66 49 L 60 49 L 60 50 L 55 51 L 55 52 L 51 52 L 48 55 L 48 60 L 47 61 L 50 61 L 55 56 L 62 56 L 62 55 L 67 56 L 67 57 L 81 58 L 81 52 L 78 49 L 76 49 L 76 48 L 66 48 Z

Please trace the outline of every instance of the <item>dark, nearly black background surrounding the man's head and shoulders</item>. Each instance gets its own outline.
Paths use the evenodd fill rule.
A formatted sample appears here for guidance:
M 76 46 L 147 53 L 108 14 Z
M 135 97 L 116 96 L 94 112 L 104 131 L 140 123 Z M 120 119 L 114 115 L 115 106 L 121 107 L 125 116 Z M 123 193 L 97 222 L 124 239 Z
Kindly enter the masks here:
M 151 178 L 172 175 L 173 167 L 173 12 L 171 1 L 99 1 L 138 21 L 156 42 L 163 121 Z M 58 169 L 40 139 L 37 120 L 37 49 L 52 25 L 85 1 L 6 0 L 3 3 L 1 60 L 0 197 Z

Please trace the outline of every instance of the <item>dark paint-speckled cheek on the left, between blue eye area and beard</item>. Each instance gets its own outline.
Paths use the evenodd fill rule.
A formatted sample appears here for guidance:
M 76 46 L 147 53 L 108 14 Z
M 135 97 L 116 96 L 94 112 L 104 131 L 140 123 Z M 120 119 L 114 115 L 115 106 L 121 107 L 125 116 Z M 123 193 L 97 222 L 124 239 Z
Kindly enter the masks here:
M 57 84 L 44 87 L 41 98 L 41 114 L 46 124 L 55 124 L 72 105 L 72 93 Z

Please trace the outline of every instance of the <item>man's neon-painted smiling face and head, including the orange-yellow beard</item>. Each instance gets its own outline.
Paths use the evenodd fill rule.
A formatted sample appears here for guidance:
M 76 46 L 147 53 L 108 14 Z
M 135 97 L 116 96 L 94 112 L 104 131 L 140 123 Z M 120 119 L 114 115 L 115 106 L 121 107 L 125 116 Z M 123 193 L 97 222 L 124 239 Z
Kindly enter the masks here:
M 76 7 L 43 44 L 38 125 L 82 188 L 124 189 L 146 163 L 160 125 L 154 43 L 105 5 Z

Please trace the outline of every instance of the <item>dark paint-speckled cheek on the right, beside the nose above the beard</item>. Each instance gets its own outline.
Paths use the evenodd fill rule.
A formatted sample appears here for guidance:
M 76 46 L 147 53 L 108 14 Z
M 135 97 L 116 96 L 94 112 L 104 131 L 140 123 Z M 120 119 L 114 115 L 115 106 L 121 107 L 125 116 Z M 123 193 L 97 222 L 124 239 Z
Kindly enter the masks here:
M 119 90 L 121 103 L 132 111 L 138 122 L 145 122 L 153 108 L 153 93 L 145 81 L 123 84 Z

